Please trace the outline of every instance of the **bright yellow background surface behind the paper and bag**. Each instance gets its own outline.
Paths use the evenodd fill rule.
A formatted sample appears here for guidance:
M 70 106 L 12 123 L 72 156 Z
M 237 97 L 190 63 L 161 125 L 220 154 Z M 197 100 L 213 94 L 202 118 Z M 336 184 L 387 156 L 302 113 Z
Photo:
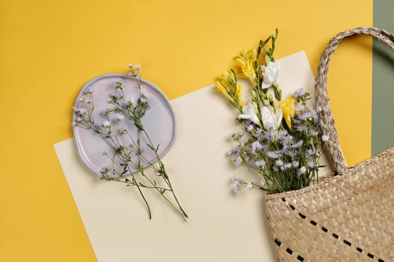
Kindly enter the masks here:
M 372 26 L 372 0 L 1 0 L 0 261 L 96 260 L 52 147 L 72 137 L 71 106 L 91 78 L 140 63 L 173 99 L 276 27 L 275 57 L 305 50 L 316 74 L 331 37 L 360 26 Z M 370 156 L 371 85 L 372 39 L 344 41 L 329 94 L 349 165 Z

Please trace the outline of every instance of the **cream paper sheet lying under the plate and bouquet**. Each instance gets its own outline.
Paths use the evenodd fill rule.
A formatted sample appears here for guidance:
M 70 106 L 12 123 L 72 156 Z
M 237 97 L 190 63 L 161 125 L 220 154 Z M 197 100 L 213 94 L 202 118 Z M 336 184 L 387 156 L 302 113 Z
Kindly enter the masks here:
M 305 53 L 280 61 L 283 97 L 297 87 L 305 87 L 314 97 Z M 145 190 L 152 211 L 149 221 L 136 188 L 97 181 L 79 159 L 73 139 L 54 145 L 99 262 L 277 261 L 264 194 L 244 190 L 237 197 L 231 192 L 233 174 L 259 178 L 247 168 L 234 167 L 226 157 L 235 147 L 228 134 L 240 128 L 234 120 L 238 111 L 214 89 L 211 85 L 171 101 L 178 137 L 163 162 L 189 225 L 157 192 Z M 244 86 L 244 90 L 250 89 Z M 247 94 L 244 99 L 248 101 Z M 328 162 L 324 155 L 323 163 Z M 331 168 L 325 171 L 321 173 Z

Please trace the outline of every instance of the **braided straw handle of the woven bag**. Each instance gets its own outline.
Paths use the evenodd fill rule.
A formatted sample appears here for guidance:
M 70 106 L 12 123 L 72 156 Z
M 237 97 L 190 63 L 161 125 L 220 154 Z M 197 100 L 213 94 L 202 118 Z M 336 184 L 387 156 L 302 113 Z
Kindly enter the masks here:
M 338 133 L 334 126 L 334 117 L 330 108 L 330 99 L 327 95 L 327 74 L 330 66 L 331 57 L 337 49 L 338 44 L 348 36 L 354 34 L 365 34 L 377 38 L 380 42 L 394 49 L 394 35 L 388 33 L 385 30 L 374 28 L 374 27 L 359 27 L 345 32 L 339 33 L 333 39 L 330 40 L 322 56 L 318 66 L 318 74 L 316 76 L 316 82 L 314 88 L 316 90 L 316 102 L 317 105 L 322 107 L 322 113 L 320 117 L 320 127 L 324 135 L 330 137 L 328 141 L 328 150 L 331 158 L 335 165 L 335 169 L 338 173 L 342 173 L 347 170 L 346 162 L 343 157 L 342 151 L 339 147 Z

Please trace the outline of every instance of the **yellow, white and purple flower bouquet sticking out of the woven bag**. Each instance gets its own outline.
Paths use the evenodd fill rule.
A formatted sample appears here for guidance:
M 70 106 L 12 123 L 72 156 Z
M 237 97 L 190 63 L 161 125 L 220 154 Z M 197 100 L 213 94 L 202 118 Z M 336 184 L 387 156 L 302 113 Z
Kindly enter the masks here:
M 298 88 L 294 96 L 282 99 L 279 88 L 280 62 L 275 62 L 275 42 L 272 35 L 260 41 L 258 49 L 242 50 L 237 64 L 242 73 L 232 68 L 223 72 L 216 82 L 215 91 L 224 94 L 231 105 L 238 108 L 238 123 L 245 132 L 233 132 L 230 140 L 238 145 L 227 152 L 235 166 L 256 170 L 257 182 L 246 182 L 233 176 L 232 191 L 239 194 L 246 187 L 249 192 L 258 188 L 268 194 L 301 189 L 319 180 L 321 149 L 325 148 L 328 136 L 319 133 L 321 108 L 307 106 L 310 94 Z M 271 48 L 266 45 L 271 41 Z M 262 51 L 265 64 L 259 65 Z M 241 99 L 243 87 L 238 78 L 249 79 L 252 86 L 252 101 L 244 104 Z M 269 92 L 269 90 L 271 90 Z M 295 109 L 295 103 L 299 107 Z

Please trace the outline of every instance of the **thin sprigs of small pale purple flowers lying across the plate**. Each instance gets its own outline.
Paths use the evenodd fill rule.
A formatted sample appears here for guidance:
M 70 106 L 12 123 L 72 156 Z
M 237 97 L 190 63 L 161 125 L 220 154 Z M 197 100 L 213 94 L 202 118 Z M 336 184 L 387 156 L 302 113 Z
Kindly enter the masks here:
M 186 218 L 188 216 L 179 204 L 164 164 L 161 161 L 159 154 L 157 154 L 159 145 L 153 145 L 141 121 L 141 118 L 147 113 L 148 109 L 153 106 L 153 103 L 147 93 L 141 93 L 142 81 L 140 65 L 133 66 L 129 64 L 128 67 L 128 74 L 133 76 L 136 81 L 137 88 L 139 90 L 139 97 L 134 100 L 133 97 L 127 96 L 125 92 L 126 87 L 122 83 L 122 79 L 114 79 L 114 91 L 116 90 L 116 92 L 109 94 L 109 98 L 107 99 L 109 108 L 103 108 L 101 111 L 101 114 L 105 116 L 106 120 L 97 122 L 92 116 L 92 113 L 95 109 L 93 90 L 91 88 L 87 88 L 84 90 L 85 96 L 80 99 L 80 103 L 84 106 L 73 107 L 78 117 L 71 123 L 71 125 L 92 130 L 93 132 L 97 133 L 97 135 L 100 136 L 112 149 L 111 152 L 107 150 L 101 152 L 102 157 L 108 157 L 111 159 L 112 166 L 104 166 L 101 170 L 101 174 L 99 174 L 97 177 L 98 180 L 116 181 L 125 183 L 126 186 L 136 187 L 147 206 L 149 219 L 151 219 L 151 212 L 142 190 L 155 190 L 178 212 L 178 214 L 186 222 Z M 116 112 L 116 114 L 114 117 L 111 117 L 113 112 Z M 130 135 L 129 127 L 127 127 L 127 125 L 120 126 L 120 123 L 124 122 L 126 119 L 130 120 L 131 124 L 134 124 L 138 128 L 138 137 L 133 138 Z M 143 151 L 140 147 L 141 135 L 146 137 L 148 141 L 147 146 L 154 152 L 157 161 L 156 164 L 149 162 L 144 157 Z M 128 139 L 125 139 L 125 137 Z M 131 141 L 131 144 L 126 143 L 126 141 Z M 132 156 L 137 157 L 133 157 L 132 159 Z M 134 159 L 137 160 L 135 161 Z M 148 178 L 143 168 L 144 165 L 147 165 L 149 168 L 151 168 L 157 177 L 161 177 L 163 179 L 165 184 L 164 187 L 157 186 L 154 179 Z M 122 167 L 123 172 L 118 172 L 116 170 L 119 167 Z M 138 174 L 132 173 L 130 167 L 138 170 L 140 176 L 138 176 Z M 112 176 L 110 176 L 111 173 Z M 127 175 L 130 175 L 130 177 L 126 178 L 125 176 Z M 144 183 L 147 183 L 147 185 L 139 182 L 140 179 L 143 179 L 145 181 Z M 175 203 L 170 200 L 168 194 L 165 194 L 167 192 L 171 192 Z

